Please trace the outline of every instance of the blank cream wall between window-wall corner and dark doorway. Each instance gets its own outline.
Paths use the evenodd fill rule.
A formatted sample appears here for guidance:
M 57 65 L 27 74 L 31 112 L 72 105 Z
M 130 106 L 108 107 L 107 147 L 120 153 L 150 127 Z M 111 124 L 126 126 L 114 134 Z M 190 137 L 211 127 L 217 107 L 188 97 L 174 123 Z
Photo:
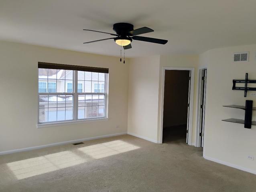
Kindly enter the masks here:
M 128 133 L 157 141 L 160 56 L 130 59 Z

